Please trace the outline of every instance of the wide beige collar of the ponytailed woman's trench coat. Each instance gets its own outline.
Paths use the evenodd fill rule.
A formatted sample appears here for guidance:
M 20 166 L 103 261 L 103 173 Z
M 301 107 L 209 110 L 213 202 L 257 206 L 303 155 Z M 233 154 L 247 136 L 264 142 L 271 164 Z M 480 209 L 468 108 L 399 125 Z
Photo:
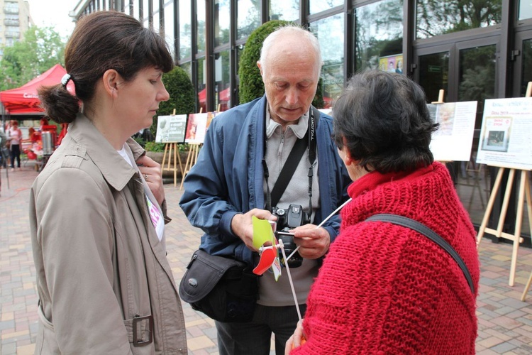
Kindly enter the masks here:
M 122 190 L 135 175 L 136 170 L 118 154 L 87 116 L 78 114 L 69 125 L 68 134 L 77 143 L 72 147 L 76 154 L 87 154 L 109 185 L 116 190 Z M 143 148 L 133 138 L 128 138 L 126 144 L 131 148 L 133 160 L 143 155 Z

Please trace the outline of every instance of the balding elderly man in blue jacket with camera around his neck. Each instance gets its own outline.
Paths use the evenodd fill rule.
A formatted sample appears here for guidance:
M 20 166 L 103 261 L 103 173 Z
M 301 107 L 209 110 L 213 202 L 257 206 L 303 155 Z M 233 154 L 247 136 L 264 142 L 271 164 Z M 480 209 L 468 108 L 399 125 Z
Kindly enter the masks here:
M 184 179 L 179 202 L 192 225 L 205 232 L 200 249 L 250 265 L 258 261 L 252 244 L 252 216 L 275 219 L 268 209 L 276 206 L 265 207 L 267 197 L 292 146 L 299 139 L 307 139 L 306 133 L 311 131 L 309 112 L 321 70 L 318 40 L 297 26 L 279 28 L 265 39 L 257 65 L 265 96 L 213 119 L 198 160 Z M 349 182 L 331 141 L 331 117 L 321 114 L 312 133 L 317 142 L 316 165 L 311 168 L 307 147 L 277 203 L 284 209 L 299 204 L 311 214 L 311 224 L 294 229 L 294 240 L 304 258 L 302 266 L 292 269 L 301 312 L 340 221 L 335 216 L 321 228 L 316 224 L 346 200 Z M 252 322 L 216 322 L 220 354 L 270 354 L 272 332 L 277 354 L 284 353 L 284 344 L 298 321 L 288 277 L 282 275 L 276 283 L 267 273 L 259 283 L 260 297 Z

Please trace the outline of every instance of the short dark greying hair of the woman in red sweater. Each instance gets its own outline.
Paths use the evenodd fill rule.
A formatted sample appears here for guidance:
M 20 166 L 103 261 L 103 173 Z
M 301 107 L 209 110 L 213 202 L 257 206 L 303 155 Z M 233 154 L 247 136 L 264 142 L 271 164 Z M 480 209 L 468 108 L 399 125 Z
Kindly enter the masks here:
M 406 171 L 430 165 L 434 124 L 423 89 L 406 75 L 368 70 L 348 81 L 333 107 L 333 139 L 366 170 Z

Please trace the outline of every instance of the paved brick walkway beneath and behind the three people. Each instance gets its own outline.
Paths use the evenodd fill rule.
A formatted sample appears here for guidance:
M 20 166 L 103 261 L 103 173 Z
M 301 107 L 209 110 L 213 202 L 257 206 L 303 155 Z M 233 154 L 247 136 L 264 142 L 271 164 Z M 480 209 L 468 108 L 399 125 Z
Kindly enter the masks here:
M 33 354 L 37 329 L 35 268 L 28 227 L 29 188 L 37 172 L 28 163 L 20 171 L 0 170 L 0 354 Z M 165 185 L 169 214 L 167 249 L 177 281 L 182 278 L 200 231 L 190 226 L 178 206 L 181 192 Z M 73 206 L 74 207 L 74 206 Z M 74 207 L 75 208 L 75 207 Z M 523 229 L 528 226 L 523 226 Z M 532 271 L 532 250 L 519 248 L 516 280 L 509 287 L 511 245 L 485 238 L 480 246 L 482 275 L 477 300 L 477 354 L 532 354 L 532 290 L 521 302 Z M 214 322 L 184 304 L 189 354 L 218 354 Z M 272 353 L 273 354 L 273 353 Z M 253 355 L 253 354 L 252 354 Z

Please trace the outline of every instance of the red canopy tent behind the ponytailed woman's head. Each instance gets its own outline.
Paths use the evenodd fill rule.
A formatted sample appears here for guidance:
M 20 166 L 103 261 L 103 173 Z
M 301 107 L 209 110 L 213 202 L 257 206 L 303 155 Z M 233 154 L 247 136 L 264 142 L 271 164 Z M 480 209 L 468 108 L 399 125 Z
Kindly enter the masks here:
M 42 114 L 37 89 L 41 86 L 60 84 L 66 73 L 64 67 L 56 64 L 21 87 L 0 92 L 0 102 L 8 114 Z M 67 89 L 74 93 L 74 84 L 69 82 Z

